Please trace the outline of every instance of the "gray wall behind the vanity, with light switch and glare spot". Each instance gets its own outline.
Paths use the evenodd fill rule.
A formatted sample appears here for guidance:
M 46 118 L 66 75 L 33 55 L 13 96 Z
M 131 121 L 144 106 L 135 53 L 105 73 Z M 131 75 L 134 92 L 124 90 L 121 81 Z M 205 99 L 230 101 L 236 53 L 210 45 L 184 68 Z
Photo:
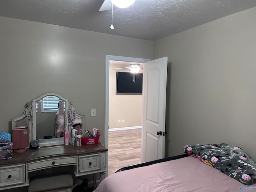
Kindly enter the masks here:
M 104 143 L 106 55 L 152 59 L 153 42 L 0 17 L 1 131 L 33 98 L 54 92 L 99 128 Z M 96 117 L 90 117 L 90 109 Z

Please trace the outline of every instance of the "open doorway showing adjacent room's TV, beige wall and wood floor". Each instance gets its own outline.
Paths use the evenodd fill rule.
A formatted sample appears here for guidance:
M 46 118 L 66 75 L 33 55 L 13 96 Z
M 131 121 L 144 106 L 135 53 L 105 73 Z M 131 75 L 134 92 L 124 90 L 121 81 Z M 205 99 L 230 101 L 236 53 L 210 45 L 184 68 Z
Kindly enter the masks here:
M 130 62 L 110 60 L 108 175 L 124 166 L 141 162 L 142 69 L 133 74 L 126 68 L 129 65 Z M 116 90 L 117 77 L 121 92 L 129 93 L 120 94 Z M 138 85 L 141 89 L 131 90 Z

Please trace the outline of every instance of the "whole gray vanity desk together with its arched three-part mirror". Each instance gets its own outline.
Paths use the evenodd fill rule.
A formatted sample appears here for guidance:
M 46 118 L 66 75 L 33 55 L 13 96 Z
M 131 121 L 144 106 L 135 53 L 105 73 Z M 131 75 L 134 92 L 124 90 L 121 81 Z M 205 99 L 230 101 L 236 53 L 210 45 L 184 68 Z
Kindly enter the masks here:
M 65 132 L 69 138 L 72 128 L 85 130 L 84 115 L 78 114 L 72 104 L 59 94 L 46 93 L 28 102 L 21 116 L 12 118 L 12 132 L 19 134 L 12 134 L 12 158 L 0 160 L 0 190 L 29 186 L 33 176 L 48 177 L 51 173 L 69 172 L 73 179 L 92 174 L 93 188 L 97 173 L 100 181 L 105 178 L 105 146 L 64 145 Z M 27 127 L 27 131 L 19 131 L 20 127 Z M 30 148 L 36 139 L 40 148 Z

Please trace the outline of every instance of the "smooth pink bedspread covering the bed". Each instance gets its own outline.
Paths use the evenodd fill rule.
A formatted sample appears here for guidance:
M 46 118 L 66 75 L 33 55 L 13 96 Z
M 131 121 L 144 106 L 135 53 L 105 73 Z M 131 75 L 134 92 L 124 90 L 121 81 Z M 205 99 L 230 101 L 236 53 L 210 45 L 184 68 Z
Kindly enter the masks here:
M 255 191 L 194 157 L 114 173 L 94 192 L 239 192 Z

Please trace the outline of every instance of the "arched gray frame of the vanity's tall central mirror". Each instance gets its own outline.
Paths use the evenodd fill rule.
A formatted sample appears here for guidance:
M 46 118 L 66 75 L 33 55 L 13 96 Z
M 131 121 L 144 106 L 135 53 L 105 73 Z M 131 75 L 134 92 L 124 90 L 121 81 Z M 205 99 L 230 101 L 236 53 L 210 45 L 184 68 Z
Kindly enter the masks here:
M 41 95 L 40 97 L 33 99 L 32 100 L 32 111 L 33 111 L 33 116 L 32 116 L 32 140 L 36 139 L 36 102 L 39 102 L 40 100 L 42 100 L 44 97 L 46 96 L 56 96 L 58 98 L 60 98 L 60 100 L 62 100 L 63 102 L 66 102 L 65 104 L 65 116 L 64 116 L 64 130 L 68 131 L 70 130 L 70 128 L 68 128 L 68 125 L 66 124 L 66 118 L 68 116 L 68 106 L 69 106 L 69 102 L 68 99 L 60 96 L 59 94 L 56 93 L 46 93 Z M 83 119 L 83 118 L 82 118 Z M 60 139 L 47 139 L 47 140 L 41 140 L 40 141 L 40 146 L 54 146 L 54 145 L 63 145 L 64 144 L 64 138 L 63 140 Z

